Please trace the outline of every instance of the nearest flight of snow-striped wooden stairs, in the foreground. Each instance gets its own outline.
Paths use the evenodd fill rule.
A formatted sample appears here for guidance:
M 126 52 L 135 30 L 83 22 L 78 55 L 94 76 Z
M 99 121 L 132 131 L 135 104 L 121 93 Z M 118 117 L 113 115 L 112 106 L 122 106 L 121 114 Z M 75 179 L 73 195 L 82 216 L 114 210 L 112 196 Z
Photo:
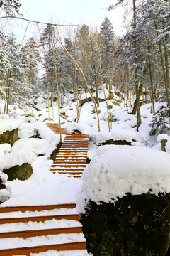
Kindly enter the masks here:
M 86 254 L 75 204 L 0 207 L 0 256 L 49 250 Z

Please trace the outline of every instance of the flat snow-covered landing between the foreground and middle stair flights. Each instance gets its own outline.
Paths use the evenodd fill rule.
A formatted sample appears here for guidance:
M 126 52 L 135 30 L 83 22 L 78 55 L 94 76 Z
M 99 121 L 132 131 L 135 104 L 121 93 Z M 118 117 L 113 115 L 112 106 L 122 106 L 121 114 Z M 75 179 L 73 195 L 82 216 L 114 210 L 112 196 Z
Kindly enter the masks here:
M 81 181 L 78 178 L 53 174 L 50 171 L 51 165 L 52 160 L 47 159 L 47 156 L 39 156 L 32 164 L 33 174 L 28 181 L 8 181 L 11 198 L 3 206 L 75 203 L 75 198 L 81 191 Z

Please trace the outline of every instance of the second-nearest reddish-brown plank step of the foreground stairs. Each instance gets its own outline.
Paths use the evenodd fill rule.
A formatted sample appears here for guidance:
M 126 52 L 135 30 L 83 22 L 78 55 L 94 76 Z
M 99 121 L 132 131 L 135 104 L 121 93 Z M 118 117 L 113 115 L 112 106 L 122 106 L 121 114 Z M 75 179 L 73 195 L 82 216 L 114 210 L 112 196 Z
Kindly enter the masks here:
M 58 234 L 71 234 L 71 233 L 82 233 L 81 227 L 72 228 L 52 228 L 52 229 L 41 229 L 41 230 L 23 230 L 14 232 L 0 233 L 0 238 L 30 238 L 40 235 L 58 235 Z

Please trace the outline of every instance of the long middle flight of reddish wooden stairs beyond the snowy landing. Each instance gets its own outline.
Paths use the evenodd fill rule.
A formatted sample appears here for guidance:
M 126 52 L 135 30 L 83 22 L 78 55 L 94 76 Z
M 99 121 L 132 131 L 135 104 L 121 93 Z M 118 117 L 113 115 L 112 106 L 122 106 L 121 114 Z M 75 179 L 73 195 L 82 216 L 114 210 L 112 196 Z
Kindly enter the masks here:
M 89 134 L 67 134 L 50 171 L 81 177 L 86 168 Z

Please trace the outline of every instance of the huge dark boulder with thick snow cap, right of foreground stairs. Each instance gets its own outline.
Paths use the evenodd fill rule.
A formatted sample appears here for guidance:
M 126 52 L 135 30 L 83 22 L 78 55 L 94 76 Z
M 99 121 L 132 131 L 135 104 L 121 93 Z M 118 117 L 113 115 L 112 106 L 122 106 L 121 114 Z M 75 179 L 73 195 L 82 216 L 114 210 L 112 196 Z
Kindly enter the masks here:
M 161 163 L 161 164 L 160 164 Z M 159 255 L 169 247 L 170 155 L 101 146 L 82 175 L 79 209 L 94 255 Z M 102 223 L 102 225 L 101 225 Z M 159 242 L 157 242 L 159 241 Z

